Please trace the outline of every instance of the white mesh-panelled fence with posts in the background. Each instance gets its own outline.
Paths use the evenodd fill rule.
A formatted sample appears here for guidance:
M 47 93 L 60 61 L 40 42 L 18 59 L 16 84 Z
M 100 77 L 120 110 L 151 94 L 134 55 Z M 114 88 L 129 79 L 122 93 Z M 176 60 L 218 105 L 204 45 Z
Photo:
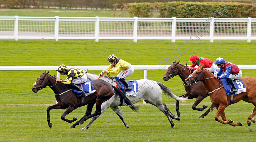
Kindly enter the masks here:
M 208 21 L 208 22 L 207 22 Z M 256 39 L 256 18 L 0 17 L 0 39 Z M 194 36 L 194 40 L 195 40 Z

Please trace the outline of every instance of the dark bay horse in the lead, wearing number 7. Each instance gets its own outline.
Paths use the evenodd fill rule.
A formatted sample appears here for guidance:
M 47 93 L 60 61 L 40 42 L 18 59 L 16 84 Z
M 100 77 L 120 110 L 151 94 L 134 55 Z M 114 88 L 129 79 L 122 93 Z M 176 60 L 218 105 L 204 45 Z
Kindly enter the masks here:
M 55 98 L 57 100 L 57 104 L 50 106 L 47 108 L 47 121 L 50 128 L 52 128 L 52 123 L 50 123 L 50 110 L 52 109 L 63 109 L 66 111 L 62 114 L 61 119 L 68 123 L 72 123 L 77 120 L 77 118 L 73 118 L 73 120 L 66 119 L 66 115 L 71 113 L 77 107 L 82 107 L 87 105 L 87 110 L 80 120 L 78 120 L 75 124 L 71 125 L 71 128 L 75 128 L 76 125 L 79 125 L 80 121 L 87 120 L 91 117 L 97 116 L 101 114 L 101 104 L 112 97 L 119 96 L 123 98 L 124 102 L 130 106 L 130 108 L 136 111 L 138 108 L 133 106 L 129 99 L 125 99 L 125 95 L 117 89 L 115 86 L 107 83 L 104 80 L 94 80 L 93 86 L 97 90 L 96 92 L 84 97 L 77 97 L 76 93 L 72 91 L 66 84 L 59 83 L 55 81 L 55 76 L 51 76 L 48 74 L 49 72 L 42 73 L 38 78 L 34 86 L 32 87 L 32 91 L 37 93 L 38 90 L 46 88 L 46 86 L 50 86 L 53 92 L 55 93 Z M 115 96 L 113 96 L 116 94 Z M 93 114 L 91 114 L 92 108 L 96 103 L 96 110 Z

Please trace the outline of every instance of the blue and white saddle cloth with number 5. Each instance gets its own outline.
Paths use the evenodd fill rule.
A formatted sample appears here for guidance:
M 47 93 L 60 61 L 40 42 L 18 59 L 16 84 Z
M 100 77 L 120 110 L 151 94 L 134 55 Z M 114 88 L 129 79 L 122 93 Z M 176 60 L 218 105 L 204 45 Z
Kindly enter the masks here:
M 243 81 L 241 79 L 236 79 L 236 80 L 233 80 L 234 81 L 234 84 L 236 86 L 236 89 L 237 89 L 237 92 L 234 93 L 234 95 L 236 94 L 240 94 L 242 92 L 246 92 L 246 88 L 245 88 L 245 85 L 243 83 Z M 221 79 L 221 82 L 224 86 L 224 90 L 226 91 L 227 95 L 232 95 L 232 93 L 229 93 L 230 90 L 231 90 L 231 87 L 230 85 L 227 83 L 227 80 L 226 79 Z M 227 85 L 227 86 L 225 86 Z

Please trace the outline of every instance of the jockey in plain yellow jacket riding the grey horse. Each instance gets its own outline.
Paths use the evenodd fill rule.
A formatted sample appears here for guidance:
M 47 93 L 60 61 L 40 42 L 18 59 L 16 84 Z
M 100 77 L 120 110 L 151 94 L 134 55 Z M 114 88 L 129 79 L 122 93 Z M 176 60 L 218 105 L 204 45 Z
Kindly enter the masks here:
M 119 80 L 126 86 L 124 90 L 131 90 L 131 87 L 129 86 L 125 78 L 130 76 L 134 72 L 133 66 L 130 63 L 120 58 L 117 58 L 114 54 L 109 55 L 107 61 L 110 62 L 110 65 L 108 66 L 108 68 L 104 69 L 99 75 L 102 76 L 105 73 L 118 73 L 119 70 L 122 70 L 117 75 L 117 77 L 119 77 Z M 115 68 L 115 70 L 109 71 L 112 68 Z

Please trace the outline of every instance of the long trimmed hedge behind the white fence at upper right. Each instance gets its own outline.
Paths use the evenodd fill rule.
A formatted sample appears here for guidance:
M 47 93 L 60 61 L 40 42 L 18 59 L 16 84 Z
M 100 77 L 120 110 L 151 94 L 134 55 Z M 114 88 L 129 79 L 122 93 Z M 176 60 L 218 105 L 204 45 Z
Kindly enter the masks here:
M 177 17 L 177 18 L 209 18 L 212 12 L 219 10 L 223 16 L 219 18 L 256 18 L 256 3 L 225 2 L 227 11 L 223 8 L 223 2 L 155 2 L 155 3 L 127 3 L 125 10 L 131 17 Z

